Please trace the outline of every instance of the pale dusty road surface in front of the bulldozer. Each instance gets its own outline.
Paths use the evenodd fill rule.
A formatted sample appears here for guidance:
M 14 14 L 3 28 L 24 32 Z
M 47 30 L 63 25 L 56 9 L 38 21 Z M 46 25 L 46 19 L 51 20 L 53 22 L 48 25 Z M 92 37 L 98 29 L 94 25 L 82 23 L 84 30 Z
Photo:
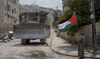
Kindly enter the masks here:
M 38 41 L 22 45 L 20 40 L 12 40 L 0 45 L 0 59 L 51 58 L 52 55 L 50 48 Z

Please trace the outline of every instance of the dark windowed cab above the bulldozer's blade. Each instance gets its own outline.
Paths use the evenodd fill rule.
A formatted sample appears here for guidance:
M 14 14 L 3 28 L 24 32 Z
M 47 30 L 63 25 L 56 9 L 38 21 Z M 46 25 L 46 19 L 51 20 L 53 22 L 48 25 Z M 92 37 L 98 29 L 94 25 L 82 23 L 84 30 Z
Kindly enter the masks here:
M 43 23 L 46 24 L 47 12 L 26 12 L 20 14 L 20 24 L 22 23 Z

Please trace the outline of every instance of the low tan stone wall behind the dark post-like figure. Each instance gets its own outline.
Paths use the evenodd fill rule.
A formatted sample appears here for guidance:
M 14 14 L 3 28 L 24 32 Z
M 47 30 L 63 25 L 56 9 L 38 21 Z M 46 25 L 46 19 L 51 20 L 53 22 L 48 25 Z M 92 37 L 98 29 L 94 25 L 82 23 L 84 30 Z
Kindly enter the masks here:
M 78 44 L 78 38 L 80 36 L 81 32 L 84 32 L 85 34 L 85 44 L 86 46 L 92 47 L 92 25 L 86 25 L 79 29 L 77 33 L 74 34 L 74 36 L 67 35 L 66 32 L 59 32 L 57 29 L 57 36 L 60 36 L 63 39 L 66 39 L 72 44 Z M 100 43 L 100 23 L 96 23 L 96 34 L 97 34 L 97 43 Z

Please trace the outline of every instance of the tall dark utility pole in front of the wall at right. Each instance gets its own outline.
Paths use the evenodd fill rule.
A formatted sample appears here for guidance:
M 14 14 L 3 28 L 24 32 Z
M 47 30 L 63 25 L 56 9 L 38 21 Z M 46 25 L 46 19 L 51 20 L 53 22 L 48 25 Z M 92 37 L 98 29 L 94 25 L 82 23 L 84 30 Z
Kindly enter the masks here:
M 93 38 L 93 52 L 97 50 L 96 44 L 96 24 L 95 24 L 95 7 L 94 7 L 94 0 L 90 0 L 90 12 L 91 12 L 91 20 L 92 20 L 92 38 Z

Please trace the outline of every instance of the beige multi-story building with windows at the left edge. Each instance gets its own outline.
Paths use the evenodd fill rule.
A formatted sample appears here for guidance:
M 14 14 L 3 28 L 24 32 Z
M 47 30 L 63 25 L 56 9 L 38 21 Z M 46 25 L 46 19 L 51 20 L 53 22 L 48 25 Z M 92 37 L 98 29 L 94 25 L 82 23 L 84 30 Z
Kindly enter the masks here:
M 0 32 L 13 30 L 19 24 L 19 0 L 0 0 Z

